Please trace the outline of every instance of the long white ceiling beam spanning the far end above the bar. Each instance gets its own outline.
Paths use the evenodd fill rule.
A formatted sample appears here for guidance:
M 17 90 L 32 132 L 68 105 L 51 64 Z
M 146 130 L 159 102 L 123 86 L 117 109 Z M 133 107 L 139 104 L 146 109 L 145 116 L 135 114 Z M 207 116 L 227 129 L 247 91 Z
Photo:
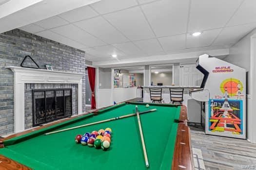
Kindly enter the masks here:
M 93 62 L 93 66 L 102 68 L 111 67 L 126 67 L 126 66 L 141 66 L 141 65 L 153 65 L 153 64 L 167 64 L 167 63 L 179 63 L 179 62 L 196 62 L 199 55 L 208 54 L 210 56 L 228 55 L 229 49 L 218 49 L 209 51 L 194 51 L 186 53 L 176 53 L 167 55 L 155 55 L 150 57 L 139 57 L 131 59 L 119 59 L 117 61 L 98 61 Z

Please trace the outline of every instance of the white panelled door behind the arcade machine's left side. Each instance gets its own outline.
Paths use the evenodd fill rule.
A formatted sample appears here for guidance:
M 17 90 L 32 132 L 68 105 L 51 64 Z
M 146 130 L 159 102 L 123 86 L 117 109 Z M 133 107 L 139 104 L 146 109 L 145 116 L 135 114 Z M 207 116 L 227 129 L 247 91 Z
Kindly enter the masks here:
M 180 85 L 200 86 L 203 74 L 196 68 L 196 64 L 180 65 Z

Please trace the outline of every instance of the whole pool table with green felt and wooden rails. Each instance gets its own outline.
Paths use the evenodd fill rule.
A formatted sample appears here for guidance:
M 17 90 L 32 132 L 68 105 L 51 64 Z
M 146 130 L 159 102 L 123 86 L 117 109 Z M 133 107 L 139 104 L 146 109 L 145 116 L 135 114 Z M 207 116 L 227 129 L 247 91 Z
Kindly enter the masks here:
M 192 170 L 187 111 L 183 105 L 123 102 L 92 113 L 43 125 L 0 141 L 0 170 Z M 103 119 L 157 109 L 140 115 L 149 160 L 146 168 L 137 116 L 44 135 Z M 107 151 L 75 143 L 75 136 L 110 127 Z

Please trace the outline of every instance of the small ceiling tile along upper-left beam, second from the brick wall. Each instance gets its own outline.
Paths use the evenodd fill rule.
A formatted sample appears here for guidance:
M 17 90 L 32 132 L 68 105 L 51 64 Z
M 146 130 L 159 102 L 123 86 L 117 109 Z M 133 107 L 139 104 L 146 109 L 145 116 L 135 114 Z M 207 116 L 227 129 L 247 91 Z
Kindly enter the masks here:
M 54 17 L 49 17 L 47 19 L 40 20 L 38 22 L 35 22 L 34 24 L 42 28 L 49 29 L 49 28 L 59 27 L 61 25 L 68 24 L 68 22 L 58 16 L 54 16 Z

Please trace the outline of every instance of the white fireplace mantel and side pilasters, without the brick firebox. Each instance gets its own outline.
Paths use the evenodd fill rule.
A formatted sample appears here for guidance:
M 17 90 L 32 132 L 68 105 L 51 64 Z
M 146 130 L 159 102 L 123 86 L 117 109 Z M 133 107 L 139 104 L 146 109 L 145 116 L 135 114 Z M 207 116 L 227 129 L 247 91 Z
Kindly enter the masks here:
M 82 113 L 83 74 L 8 66 L 14 72 L 14 132 L 25 130 L 25 84 L 78 84 L 78 114 Z

